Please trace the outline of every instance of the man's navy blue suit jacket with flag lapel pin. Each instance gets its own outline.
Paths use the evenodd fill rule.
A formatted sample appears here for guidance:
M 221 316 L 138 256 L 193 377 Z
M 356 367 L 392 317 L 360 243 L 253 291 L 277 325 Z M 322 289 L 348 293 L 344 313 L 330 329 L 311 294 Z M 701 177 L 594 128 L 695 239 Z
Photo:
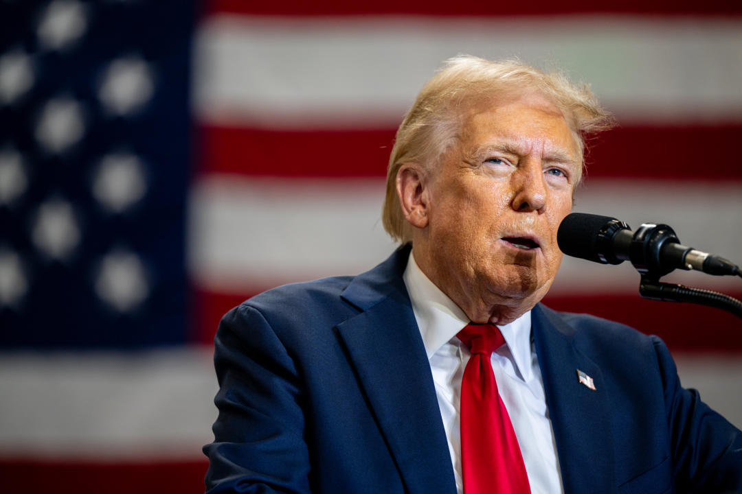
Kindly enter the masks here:
M 408 253 L 224 316 L 209 493 L 456 493 Z M 680 387 L 662 341 L 541 304 L 532 330 L 566 493 L 742 491 L 742 433 Z

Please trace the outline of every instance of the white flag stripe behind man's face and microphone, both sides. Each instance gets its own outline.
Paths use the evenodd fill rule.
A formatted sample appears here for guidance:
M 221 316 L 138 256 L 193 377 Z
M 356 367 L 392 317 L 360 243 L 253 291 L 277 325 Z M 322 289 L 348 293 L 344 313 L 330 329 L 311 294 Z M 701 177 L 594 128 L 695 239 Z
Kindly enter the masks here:
M 383 198 L 382 178 L 211 174 L 197 182 L 192 196 L 191 274 L 201 287 L 250 293 L 361 273 L 395 248 L 381 227 Z M 736 184 L 588 180 L 575 210 L 617 217 L 634 230 L 642 223 L 669 224 L 683 244 L 742 262 L 742 190 Z M 735 278 L 680 276 L 717 290 L 736 286 Z M 552 293 L 635 293 L 637 286 L 628 263 L 607 267 L 565 259 Z

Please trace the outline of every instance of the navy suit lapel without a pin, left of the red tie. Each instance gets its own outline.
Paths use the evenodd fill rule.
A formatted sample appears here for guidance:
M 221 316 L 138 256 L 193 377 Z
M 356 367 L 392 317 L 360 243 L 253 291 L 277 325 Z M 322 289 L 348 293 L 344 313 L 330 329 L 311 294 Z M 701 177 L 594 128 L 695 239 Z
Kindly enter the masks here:
M 338 332 L 407 492 L 455 493 L 430 364 L 401 279 L 407 253 L 355 278 L 343 298 L 363 312 Z

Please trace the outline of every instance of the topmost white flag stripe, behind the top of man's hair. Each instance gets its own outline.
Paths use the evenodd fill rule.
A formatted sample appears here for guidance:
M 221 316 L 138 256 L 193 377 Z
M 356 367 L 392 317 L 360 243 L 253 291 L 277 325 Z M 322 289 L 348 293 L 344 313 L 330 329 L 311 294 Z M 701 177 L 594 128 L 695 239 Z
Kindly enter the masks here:
M 214 16 L 196 42 L 202 121 L 396 127 L 457 53 L 554 64 L 623 123 L 739 121 L 742 19 Z

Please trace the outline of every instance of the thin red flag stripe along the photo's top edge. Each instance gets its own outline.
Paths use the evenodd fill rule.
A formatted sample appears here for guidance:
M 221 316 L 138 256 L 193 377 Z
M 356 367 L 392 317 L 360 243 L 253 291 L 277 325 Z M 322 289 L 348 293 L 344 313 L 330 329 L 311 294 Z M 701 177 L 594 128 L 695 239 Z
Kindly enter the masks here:
M 628 0 L 628 1 L 443 1 L 377 0 L 373 2 L 319 0 L 243 1 L 211 0 L 206 13 L 269 16 L 361 16 L 369 14 L 421 14 L 428 16 L 543 16 L 547 14 L 620 13 L 725 16 L 742 13 L 732 0 Z

